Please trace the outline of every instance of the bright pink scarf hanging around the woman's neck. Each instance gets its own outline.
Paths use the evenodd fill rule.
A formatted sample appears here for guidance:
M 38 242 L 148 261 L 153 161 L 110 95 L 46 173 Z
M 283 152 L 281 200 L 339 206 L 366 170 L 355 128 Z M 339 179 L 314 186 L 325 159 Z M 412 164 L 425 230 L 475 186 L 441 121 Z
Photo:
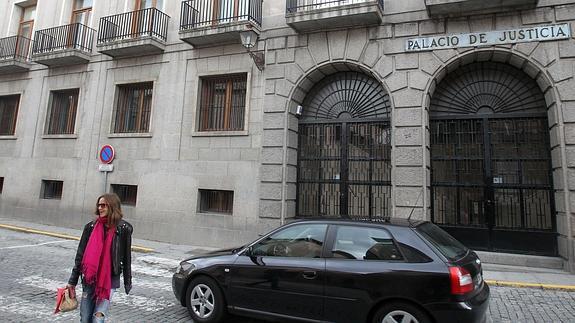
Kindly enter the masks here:
M 107 222 L 108 217 L 98 217 L 82 258 L 84 281 L 94 287 L 97 302 L 110 299 L 112 288 L 112 240 L 116 230 L 110 228 L 104 241 Z

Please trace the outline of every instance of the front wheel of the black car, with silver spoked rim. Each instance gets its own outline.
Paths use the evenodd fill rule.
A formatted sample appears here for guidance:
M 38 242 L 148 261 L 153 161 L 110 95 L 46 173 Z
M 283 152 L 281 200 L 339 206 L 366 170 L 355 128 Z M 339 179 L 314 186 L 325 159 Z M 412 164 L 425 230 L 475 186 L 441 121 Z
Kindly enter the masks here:
M 226 304 L 217 283 L 208 277 L 194 278 L 186 292 L 186 305 L 194 322 L 223 322 Z

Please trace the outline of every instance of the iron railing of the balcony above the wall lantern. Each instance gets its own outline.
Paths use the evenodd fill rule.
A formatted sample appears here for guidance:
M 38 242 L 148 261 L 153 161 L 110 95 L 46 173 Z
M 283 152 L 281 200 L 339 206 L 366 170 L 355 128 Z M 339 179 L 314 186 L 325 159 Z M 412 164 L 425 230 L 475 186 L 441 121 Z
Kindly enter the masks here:
M 236 21 L 262 25 L 263 0 L 187 0 L 182 2 L 180 30 L 218 26 Z

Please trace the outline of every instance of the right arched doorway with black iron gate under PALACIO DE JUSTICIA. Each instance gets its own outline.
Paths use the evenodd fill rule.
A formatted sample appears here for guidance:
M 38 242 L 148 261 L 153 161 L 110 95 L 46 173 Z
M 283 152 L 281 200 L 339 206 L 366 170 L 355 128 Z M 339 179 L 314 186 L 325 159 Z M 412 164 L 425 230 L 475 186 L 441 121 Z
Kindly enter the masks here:
M 523 71 L 475 62 L 430 104 L 432 220 L 478 250 L 557 254 L 545 98 Z

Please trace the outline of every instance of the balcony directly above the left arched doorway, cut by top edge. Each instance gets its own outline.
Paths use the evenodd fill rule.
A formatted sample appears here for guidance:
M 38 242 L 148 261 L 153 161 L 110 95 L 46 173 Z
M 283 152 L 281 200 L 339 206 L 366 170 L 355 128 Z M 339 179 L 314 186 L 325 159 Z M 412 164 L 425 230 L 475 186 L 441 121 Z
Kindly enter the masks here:
M 298 32 L 378 25 L 383 0 L 286 0 L 286 23 Z

